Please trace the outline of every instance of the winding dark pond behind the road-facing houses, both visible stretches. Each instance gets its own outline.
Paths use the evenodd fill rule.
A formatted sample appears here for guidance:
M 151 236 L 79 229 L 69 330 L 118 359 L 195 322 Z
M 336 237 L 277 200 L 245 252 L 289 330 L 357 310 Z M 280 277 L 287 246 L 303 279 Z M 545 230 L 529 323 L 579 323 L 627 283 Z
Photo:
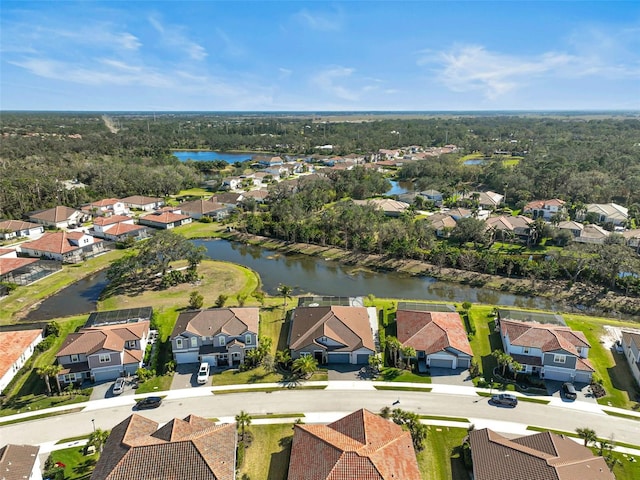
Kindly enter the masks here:
M 521 308 L 560 310 L 562 306 L 542 297 L 524 297 L 488 288 L 471 287 L 414 277 L 396 272 L 375 272 L 307 255 L 285 255 L 254 245 L 227 240 L 195 240 L 207 249 L 209 258 L 245 265 L 260 275 L 262 289 L 277 296 L 278 287 L 293 287 L 294 295 L 407 298 L 442 302 L 472 302 Z M 104 272 L 92 275 L 44 300 L 27 321 L 80 315 L 95 310 L 100 292 L 107 285 Z

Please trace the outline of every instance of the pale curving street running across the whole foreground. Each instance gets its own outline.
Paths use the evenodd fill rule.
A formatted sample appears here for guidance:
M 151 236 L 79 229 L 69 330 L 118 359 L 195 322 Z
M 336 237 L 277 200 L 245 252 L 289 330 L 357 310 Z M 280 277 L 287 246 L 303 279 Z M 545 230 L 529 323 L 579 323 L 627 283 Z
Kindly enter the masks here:
M 140 414 L 158 422 L 195 414 L 206 418 L 232 419 L 240 410 L 251 415 L 267 413 L 350 413 L 359 408 L 379 412 L 393 403 L 421 415 L 446 415 L 469 418 L 471 422 L 496 430 L 501 422 L 574 431 L 578 427 L 594 429 L 600 437 L 637 444 L 640 442 L 640 421 L 609 416 L 601 412 L 581 411 L 575 405 L 553 406 L 519 402 L 516 408 L 502 408 L 488 404 L 486 397 L 425 392 L 388 390 L 285 390 L 271 393 L 242 392 L 225 395 L 165 399 L 154 410 Z M 124 398 L 120 401 L 128 401 Z M 95 420 L 96 428 L 111 429 L 133 413 L 133 399 L 127 405 L 47 417 L 0 427 L 0 444 L 41 444 L 62 438 L 89 434 Z M 477 423 L 477 424 L 478 424 Z

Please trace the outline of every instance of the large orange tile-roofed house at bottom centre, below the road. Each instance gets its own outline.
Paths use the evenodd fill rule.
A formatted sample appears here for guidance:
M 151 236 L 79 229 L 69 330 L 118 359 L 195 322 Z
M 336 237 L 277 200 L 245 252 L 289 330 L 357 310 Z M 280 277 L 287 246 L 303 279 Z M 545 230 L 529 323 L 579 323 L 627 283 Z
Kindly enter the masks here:
M 329 425 L 294 425 L 288 480 L 419 480 L 411 434 L 365 409 Z

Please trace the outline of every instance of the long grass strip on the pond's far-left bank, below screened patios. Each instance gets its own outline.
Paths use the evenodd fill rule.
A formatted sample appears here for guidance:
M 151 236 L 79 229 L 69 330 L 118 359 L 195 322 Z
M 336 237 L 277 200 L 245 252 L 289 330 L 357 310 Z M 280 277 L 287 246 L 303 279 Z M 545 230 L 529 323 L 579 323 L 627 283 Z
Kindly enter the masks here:
M 0 325 L 15 322 L 18 312 L 26 312 L 35 305 L 66 286 L 108 267 L 111 262 L 125 254 L 126 250 L 112 250 L 83 263 L 64 265 L 62 270 L 26 287 L 18 287 L 0 300 Z

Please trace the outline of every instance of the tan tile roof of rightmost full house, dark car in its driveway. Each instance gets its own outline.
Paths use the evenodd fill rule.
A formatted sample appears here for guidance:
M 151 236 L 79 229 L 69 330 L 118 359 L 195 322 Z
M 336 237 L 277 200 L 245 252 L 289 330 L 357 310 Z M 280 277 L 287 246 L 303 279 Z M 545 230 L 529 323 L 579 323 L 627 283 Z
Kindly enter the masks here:
M 512 345 L 539 348 L 543 352 L 565 350 L 579 356 L 577 347 L 591 346 L 584 333 L 558 325 L 500 320 L 500 331 L 509 336 Z

